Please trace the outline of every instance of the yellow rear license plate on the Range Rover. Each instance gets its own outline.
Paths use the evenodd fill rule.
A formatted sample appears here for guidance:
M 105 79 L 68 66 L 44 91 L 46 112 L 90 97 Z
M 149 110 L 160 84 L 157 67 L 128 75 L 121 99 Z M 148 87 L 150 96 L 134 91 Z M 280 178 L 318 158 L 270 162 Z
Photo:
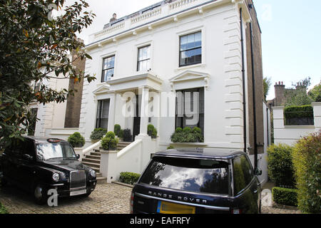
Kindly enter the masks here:
M 157 212 L 161 214 L 195 214 L 195 207 L 158 201 Z

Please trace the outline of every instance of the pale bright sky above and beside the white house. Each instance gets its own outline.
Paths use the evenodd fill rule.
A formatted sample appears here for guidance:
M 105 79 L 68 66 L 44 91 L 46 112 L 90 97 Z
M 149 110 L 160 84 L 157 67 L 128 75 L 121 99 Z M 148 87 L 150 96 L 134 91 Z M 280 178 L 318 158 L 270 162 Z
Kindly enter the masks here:
M 67 0 L 67 4 L 74 0 Z M 86 0 L 96 14 L 93 24 L 79 37 L 100 31 L 113 13 L 118 19 L 161 0 Z M 311 86 L 321 81 L 321 1 L 253 0 L 262 30 L 263 76 L 272 83 L 267 100 L 275 97 L 275 82 L 286 88 L 304 78 Z M 309 88 L 309 89 L 310 89 Z

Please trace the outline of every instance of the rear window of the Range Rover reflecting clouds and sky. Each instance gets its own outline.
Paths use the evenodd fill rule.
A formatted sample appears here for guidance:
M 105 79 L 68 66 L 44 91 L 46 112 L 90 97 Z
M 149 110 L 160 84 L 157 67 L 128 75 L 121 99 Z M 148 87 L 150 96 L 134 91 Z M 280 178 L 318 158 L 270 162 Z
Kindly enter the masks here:
M 156 187 L 228 195 L 228 162 L 154 157 L 140 182 Z

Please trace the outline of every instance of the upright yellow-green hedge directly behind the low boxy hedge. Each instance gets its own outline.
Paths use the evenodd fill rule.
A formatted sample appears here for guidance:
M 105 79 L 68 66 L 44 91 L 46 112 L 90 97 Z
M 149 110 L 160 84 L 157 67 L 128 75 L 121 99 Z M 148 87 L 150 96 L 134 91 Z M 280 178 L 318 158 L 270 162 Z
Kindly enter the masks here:
M 295 187 L 292 150 L 293 147 L 285 144 L 272 144 L 267 148 L 268 175 L 277 187 Z

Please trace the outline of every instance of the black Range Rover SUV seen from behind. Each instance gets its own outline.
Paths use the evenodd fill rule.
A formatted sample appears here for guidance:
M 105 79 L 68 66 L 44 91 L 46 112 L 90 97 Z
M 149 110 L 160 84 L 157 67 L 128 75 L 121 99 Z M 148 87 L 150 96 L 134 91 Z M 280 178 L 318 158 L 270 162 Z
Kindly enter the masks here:
M 259 173 L 259 172 L 258 172 Z M 131 195 L 132 213 L 260 213 L 248 155 L 223 149 L 157 152 Z

